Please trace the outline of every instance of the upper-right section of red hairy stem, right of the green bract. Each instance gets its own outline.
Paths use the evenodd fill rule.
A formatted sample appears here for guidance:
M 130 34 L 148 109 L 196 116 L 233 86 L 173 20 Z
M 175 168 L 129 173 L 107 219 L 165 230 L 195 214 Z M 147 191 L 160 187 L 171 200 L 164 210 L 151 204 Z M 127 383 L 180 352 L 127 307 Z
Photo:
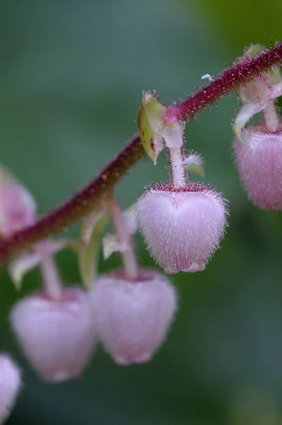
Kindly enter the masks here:
M 166 123 L 186 121 L 201 109 L 225 96 L 229 91 L 238 89 L 240 85 L 246 84 L 254 77 L 260 77 L 261 74 L 271 71 L 271 67 L 279 67 L 281 64 L 282 43 L 276 42 L 275 47 L 264 50 L 256 57 L 245 57 L 243 60 L 235 62 L 232 67 L 218 74 L 215 81 L 188 96 L 186 101 L 167 108 L 164 121 Z

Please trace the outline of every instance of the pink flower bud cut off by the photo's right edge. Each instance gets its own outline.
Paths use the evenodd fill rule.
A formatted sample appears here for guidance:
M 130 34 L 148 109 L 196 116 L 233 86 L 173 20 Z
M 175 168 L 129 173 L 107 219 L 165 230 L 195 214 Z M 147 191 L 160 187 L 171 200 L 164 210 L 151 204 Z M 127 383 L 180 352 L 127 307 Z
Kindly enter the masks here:
M 235 139 L 235 157 L 249 198 L 261 208 L 282 208 L 282 127 L 276 132 L 264 125 L 242 131 L 242 142 Z

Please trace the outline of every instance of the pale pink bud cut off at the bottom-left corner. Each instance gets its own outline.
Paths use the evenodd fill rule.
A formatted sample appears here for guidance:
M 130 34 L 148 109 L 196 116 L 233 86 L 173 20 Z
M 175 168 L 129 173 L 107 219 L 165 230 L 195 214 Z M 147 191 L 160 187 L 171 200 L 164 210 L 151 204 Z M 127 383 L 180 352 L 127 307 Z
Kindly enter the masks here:
M 7 354 L 0 354 L 0 424 L 9 416 L 21 387 L 21 371 Z

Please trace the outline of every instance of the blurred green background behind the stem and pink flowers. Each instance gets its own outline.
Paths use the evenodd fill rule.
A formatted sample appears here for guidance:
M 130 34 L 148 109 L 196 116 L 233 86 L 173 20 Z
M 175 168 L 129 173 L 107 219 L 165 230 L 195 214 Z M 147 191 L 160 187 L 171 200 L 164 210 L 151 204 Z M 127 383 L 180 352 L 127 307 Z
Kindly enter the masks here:
M 46 212 L 135 132 L 142 90 L 184 97 L 245 45 L 281 40 L 281 13 L 278 0 L 2 0 L 0 162 Z M 25 370 L 8 424 L 282 424 L 282 219 L 255 208 L 240 186 L 231 152 L 237 108 L 233 94 L 186 127 L 188 148 L 205 158 L 205 181 L 230 200 L 230 225 L 205 271 L 173 277 L 179 312 L 152 363 L 118 367 L 98 348 L 83 379 L 44 385 L 7 320 L 39 274 L 16 293 L 1 270 L 1 349 Z M 117 188 L 123 207 L 167 177 L 164 164 L 162 155 L 157 167 L 143 160 L 130 171 Z M 138 236 L 137 250 L 152 266 Z M 57 259 L 64 280 L 77 283 L 74 254 Z M 114 256 L 101 271 L 117 265 Z

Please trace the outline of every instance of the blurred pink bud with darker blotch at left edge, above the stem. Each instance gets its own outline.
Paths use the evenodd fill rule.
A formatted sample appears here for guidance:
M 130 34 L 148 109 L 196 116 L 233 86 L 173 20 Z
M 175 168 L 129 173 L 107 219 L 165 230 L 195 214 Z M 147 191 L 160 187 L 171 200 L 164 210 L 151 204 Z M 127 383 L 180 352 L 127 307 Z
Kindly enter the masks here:
M 32 225 L 35 213 L 35 201 L 28 190 L 0 166 L 0 234 L 9 237 Z

